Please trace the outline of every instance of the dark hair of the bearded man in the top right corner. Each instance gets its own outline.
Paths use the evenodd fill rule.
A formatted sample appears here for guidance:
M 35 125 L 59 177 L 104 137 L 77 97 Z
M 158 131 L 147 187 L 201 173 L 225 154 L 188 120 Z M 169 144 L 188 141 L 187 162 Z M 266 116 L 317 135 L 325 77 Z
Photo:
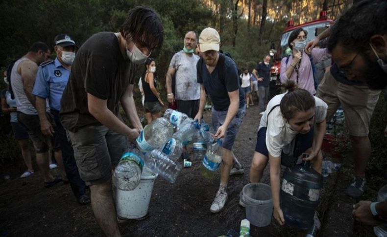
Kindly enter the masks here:
M 352 5 L 333 26 L 328 50 L 338 43 L 346 49 L 365 52 L 370 49 L 369 40 L 373 35 L 387 33 L 387 1 L 364 0 Z

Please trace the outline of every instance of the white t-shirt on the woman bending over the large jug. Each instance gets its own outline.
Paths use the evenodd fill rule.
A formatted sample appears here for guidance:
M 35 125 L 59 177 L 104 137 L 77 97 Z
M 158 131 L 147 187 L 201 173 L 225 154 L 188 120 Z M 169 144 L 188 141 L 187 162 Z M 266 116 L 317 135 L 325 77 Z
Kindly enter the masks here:
M 281 99 L 285 94 L 276 95 L 269 101 L 259 123 L 259 129 L 261 129 L 262 127 L 266 127 L 267 121 L 266 147 L 267 151 L 274 157 L 281 156 L 282 151 L 286 154 L 292 154 L 295 143 L 294 138 L 297 135 L 297 132 L 290 127 L 286 119 L 282 116 L 281 108 L 279 107 Z M 314 123 L 321 123 L 327 115 L 328 105 L 323 100 L 315 96 L 313 97 L 315 101 Z M 271 110 L 272 108 L 273 110 Z M 268 117 L 267 113 L 269 113 Z

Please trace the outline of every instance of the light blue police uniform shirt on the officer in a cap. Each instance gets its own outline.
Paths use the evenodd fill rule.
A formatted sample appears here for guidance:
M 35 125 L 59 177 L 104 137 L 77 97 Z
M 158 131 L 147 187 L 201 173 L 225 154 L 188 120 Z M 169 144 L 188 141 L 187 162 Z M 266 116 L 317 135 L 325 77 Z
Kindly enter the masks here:
M 49 107 L 59 111 L 60 100 L 69 76 L 70 70 L 62 66 L 58 58 L 44 62 L 39 66 L 32 94 L 49 98 Z

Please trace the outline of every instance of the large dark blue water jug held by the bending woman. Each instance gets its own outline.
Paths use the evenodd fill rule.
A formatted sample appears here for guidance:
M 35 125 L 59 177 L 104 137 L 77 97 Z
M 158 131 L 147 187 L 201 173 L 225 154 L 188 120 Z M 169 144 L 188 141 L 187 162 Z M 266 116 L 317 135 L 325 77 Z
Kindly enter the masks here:
M 322 175 L 310 162 L 287 168 L 280 191 L 285 223 L 304 230 L 312 227 L 321 188 Z

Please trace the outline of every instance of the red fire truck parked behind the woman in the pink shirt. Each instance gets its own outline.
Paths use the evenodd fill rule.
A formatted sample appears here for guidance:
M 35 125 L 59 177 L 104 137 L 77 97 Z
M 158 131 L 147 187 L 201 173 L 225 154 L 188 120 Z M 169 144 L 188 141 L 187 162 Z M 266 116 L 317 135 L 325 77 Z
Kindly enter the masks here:
M 271 53 L 273 55 L 274 64 L 271 67 L 271 79 L 270 79 L 270 98 L 275 96 L 280 92 L 280 68 L 281 68 L 281 60 L 286 56 L 285 51 L 289 47 L 288 41 L 291 32 L 297 28 L 302 27 L 304 30 L 308 31 L 308 36 L 306 41 L 309 42 L 313 40 L 316 35 L 320 32 L 319 30 L 324 29 L 327 25 L 330 25 L 333 20 L 327 18 L 327 12 L 320 12 L 320 18 L 318 20 L 314 20 L 312 22 L 306 22 L 299 25 L 294 25 L 293 20 L 288 22 L 288 26 L 285 28 L 284 33 L 282 34 L 278 46 L 275 50 L 275 44 L 271 43 Z

